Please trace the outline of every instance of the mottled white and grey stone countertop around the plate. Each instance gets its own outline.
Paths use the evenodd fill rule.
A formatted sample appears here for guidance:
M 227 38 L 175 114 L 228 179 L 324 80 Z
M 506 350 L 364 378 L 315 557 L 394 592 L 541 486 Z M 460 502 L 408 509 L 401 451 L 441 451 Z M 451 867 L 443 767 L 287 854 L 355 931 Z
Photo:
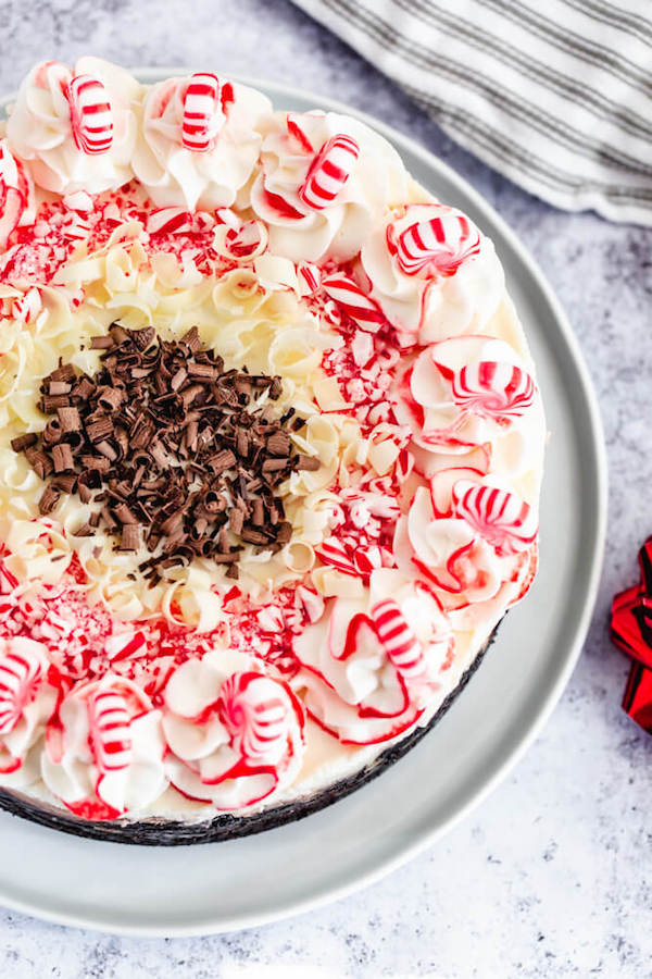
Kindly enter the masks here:
M 442 157 L 517 232 L 566 308 L 602 407 L 611 496 L 600 597 L 575 676 L 513 774 L 437 846 L 330 907 L 225 937 L 138 941 L 0 910 L 0 975 L 651 976 L 652 739 L 619 709 L 627 666 L 605 623 L 652 531 L 652 230 L 565 214 L 519 190 L 286 0 L 7 0 L 3 21 L 1 90 L 37 60 L 90 52 L 216 66 L 334 96 Z

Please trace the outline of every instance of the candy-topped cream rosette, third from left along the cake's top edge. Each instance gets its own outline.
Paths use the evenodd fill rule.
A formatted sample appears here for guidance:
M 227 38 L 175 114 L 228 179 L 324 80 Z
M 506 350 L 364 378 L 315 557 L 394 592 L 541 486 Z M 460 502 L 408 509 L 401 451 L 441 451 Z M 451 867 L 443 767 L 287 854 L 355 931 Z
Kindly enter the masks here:
M 293 261 L 348 261 L 387 208 L 408 197 L 397 151 L 335 112 L 279 112 L 267 122 L 251 205 L 269 247 Z

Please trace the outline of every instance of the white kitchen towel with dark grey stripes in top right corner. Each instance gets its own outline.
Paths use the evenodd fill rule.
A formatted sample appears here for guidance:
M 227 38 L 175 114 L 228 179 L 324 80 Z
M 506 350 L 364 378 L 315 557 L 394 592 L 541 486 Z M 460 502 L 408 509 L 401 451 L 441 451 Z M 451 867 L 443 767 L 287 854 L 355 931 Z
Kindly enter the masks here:
M 652 225 L 652 0 L 296 0 L 531 194 Z

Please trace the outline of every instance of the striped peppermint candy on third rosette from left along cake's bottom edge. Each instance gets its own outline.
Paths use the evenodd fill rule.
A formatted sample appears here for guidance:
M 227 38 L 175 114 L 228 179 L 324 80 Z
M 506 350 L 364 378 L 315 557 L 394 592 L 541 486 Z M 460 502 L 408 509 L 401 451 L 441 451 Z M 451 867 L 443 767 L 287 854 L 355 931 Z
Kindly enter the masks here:
M 248 761 L 276 759 L 287 744 L 288 705 L 283 687 L 269 677 L 233 673 L 222 684 L 217 712 Z

